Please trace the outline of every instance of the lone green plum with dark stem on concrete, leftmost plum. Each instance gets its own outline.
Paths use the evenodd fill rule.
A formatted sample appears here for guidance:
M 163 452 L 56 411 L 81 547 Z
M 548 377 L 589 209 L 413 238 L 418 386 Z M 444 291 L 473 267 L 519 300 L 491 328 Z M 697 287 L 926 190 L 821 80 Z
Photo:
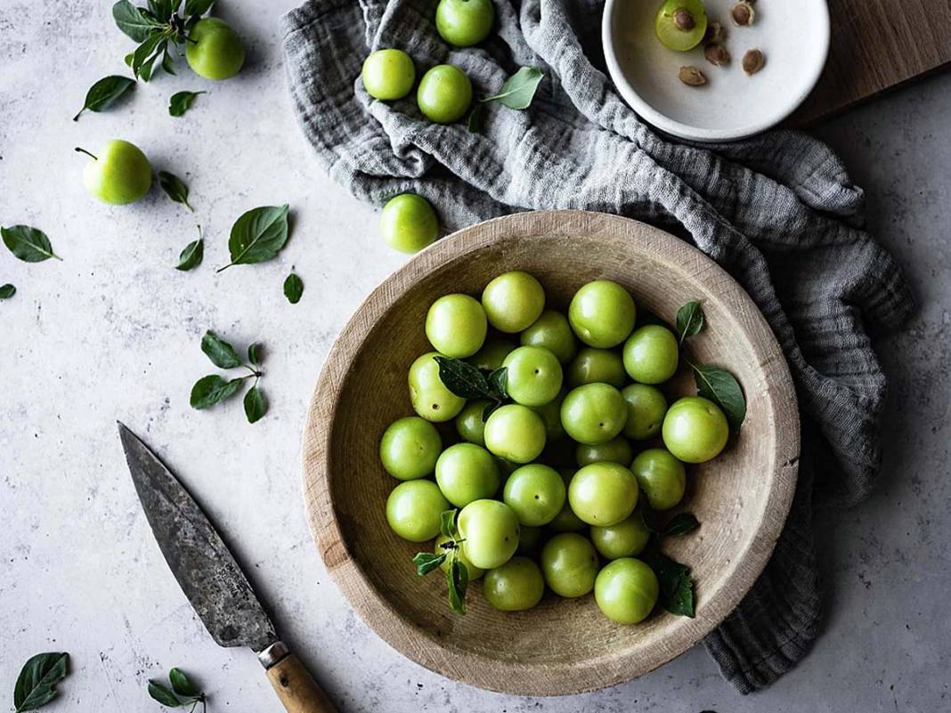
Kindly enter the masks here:
M 83 169 L 83 183 L 102 202 L 124 205 L 136 202 L 152 185 L 152 166 L 137 145 L 121 139 L 107 142 L 98 156 L 85 148 L 77 151 L 92 158 Z

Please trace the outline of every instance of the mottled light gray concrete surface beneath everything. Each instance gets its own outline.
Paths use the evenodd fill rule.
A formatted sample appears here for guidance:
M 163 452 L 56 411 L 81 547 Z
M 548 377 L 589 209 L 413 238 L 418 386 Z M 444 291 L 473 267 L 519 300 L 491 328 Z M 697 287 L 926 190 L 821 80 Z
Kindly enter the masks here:
M 402 257 L 378 238 L 372 207 L 344 195 L 311 159 L 284 90 L 277 18 L 293 0 L 222 3 L 249 62 L 212 85 L 161 76 L 116 110 L 70 117 L 130 49 L 110 2 L 0 0 L 0 222 L 45 230 L 62 262 L 0 250 L 0 701 L 20 665 L 65 649 L 73 673 L 50 710 L 157 710 L 146 680 L 184 666 L 209 710 L 277 711 L 254 657 L 205 635 L 165 568 L 129 482 L 119 418 L 144 434 L 230 534 L 286 638 L 341 711 L 922 711 L 949 706 L 951 575 L 951 75 L 903 88 L 820 127 L 867 191 L 873 230 L 921 300 L 880 343 L 892 377 L 877 494 L 826 513 L 819 542 L 829 612 L 805 662 L 741 698 L 696 648 L 649 676 L 576 698 L 513 698 L 409 663 L 354 615 L 328 580 L 301 508 L 305 404 L 332 338 Z M 266 10 L 264 6 L 266 5 Z M 207 89 L 182 119 L 168 96 Z M 142 146 L 191 184 L 195 215 L 159 191 L 111 208 L 84 191 L 84 159 L 107 138 Z M 223 264 L 243 210 L 289 202 L 280 260 Z M 172 269 L 204 225 L 204 265 Z M 295 265 L 297 306 L 281 295 Z M 238 402 L 192 411 L 191 383 L 213 371 L 207 328 L 267 347 L 270 413 L 248 425 Z

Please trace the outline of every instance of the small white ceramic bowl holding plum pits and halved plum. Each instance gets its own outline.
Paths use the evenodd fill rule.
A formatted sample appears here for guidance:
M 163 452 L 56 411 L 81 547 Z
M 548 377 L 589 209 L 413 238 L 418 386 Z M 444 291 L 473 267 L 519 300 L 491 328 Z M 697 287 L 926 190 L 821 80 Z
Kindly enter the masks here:
M 602 40 L 611 79 L 643 119 L 691 141 L 731 141 L 764 131 L 786 119 L 819 81 L 829 47 L 825 0 L 759 0 L 755 21 L 736 27 L 729 16 L 735 0 L 705 0 L 710 21 L 727 30 L 732 61 L 714 67 L 703 43 L 689 52 L 661 45 L 654 15 L 662 0 L 608 0 Z M 740 58 L 760 48 L 766 65 L 747 76 Z M 707 76 L 688 87 L 677 74 L 693 65 Z

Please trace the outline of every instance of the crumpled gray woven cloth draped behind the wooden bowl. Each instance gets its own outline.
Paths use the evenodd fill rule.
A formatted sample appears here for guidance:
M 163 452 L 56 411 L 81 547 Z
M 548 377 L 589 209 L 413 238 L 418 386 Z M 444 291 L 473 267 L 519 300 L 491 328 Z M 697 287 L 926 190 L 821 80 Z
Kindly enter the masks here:
M 854 504 L 874 485 L 885 377 L 870 335 L 901 326 L 912 307 L 897 265 L 862 230 L 862 191 L 801 133 L 708 146 L 659 136 L 603 70 L 602 2 L 495 0 L 495 32 L 464 49 L 440 40 L 435 6 L 311 0 L 288 13 L 284 52 L 303 131 L 320 164 L 365 201 L 416 191 L 450 230 L 539 208 L 630 216 L 692 242 L 746 287 L 795 379 L 803 455 L 771 561 L 706 646 L 738 690 L 762 688 L 819 634 L 813 503 Z M 546 78 L 528 110 L 493 103 L 483 132 L 469 133 L 423 119 L 412 95 L 387 104 L 366 94 L 363 58 L 390 47 L 419 69 L 462 68 L 481 95 L 519 66 Z

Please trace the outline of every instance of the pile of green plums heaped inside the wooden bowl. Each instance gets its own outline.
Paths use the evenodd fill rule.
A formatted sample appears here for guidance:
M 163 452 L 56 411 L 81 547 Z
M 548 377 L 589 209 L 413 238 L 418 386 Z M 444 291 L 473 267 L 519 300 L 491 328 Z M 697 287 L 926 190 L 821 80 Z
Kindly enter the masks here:
M 489 282 L 481 300 L 433 302 L 434 351 L 409 370 L 417 415 L 386 429 L 379 455 L 402 481 L 387 521 L 405 540 L 435 538 L 414 561 L 420 574 L 446 571 L 456 610 L 480 577 L 503 611 L 534 607 L 546 587 L 593 590 L 621 624 L 655 607 L 658 578 L 638 559 L 655 533 L 646 513 L 680 504 L 685 463 L 718 455 L 729 426 L 706 398 L 669 406 L 658 387 L 678 371 L 681 340 L 636 321 L 631 294 L 606 279 L 582 286 L 567 317 L 518 271 Z

